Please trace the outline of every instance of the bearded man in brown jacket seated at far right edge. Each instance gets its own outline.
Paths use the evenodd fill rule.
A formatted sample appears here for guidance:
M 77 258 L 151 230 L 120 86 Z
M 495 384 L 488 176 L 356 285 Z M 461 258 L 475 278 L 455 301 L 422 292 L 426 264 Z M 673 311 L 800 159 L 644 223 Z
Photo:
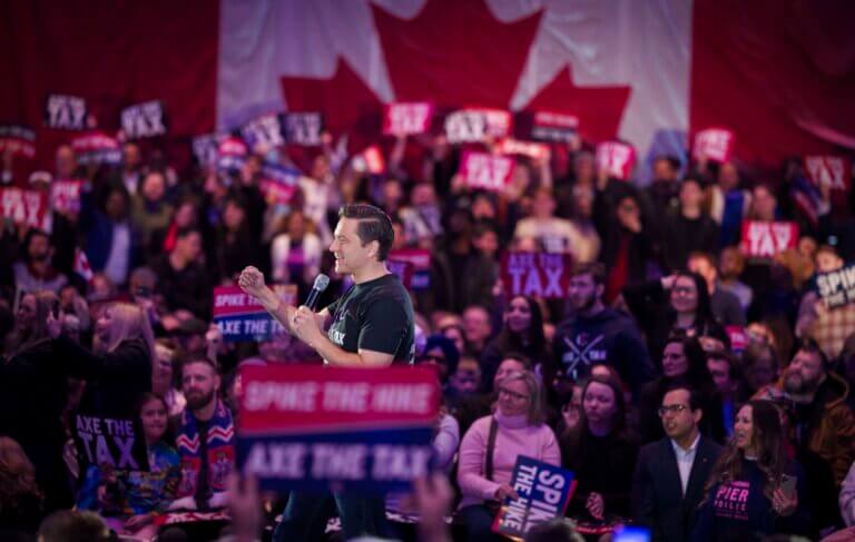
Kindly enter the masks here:
M 855 459 L 855 415 L 846 404 L 849 385 L 828 369 L 815 341 L 804 339 L 776 385 L 796 403 L 796 438 L 826 461 L 839 486 Z

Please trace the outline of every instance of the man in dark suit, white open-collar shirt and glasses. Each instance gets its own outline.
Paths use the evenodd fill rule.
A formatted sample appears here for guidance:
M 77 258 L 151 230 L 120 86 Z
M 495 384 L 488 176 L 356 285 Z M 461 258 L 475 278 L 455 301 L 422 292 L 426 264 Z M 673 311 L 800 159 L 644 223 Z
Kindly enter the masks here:
M 652 531 L 653 542 L 688 540 L 704 485 L 721 446 L 698 432 L 697 395 L 685 386 L 669 390 L 659 408 L 665 438 L 643 446 L 632 481 L 635 521 Z

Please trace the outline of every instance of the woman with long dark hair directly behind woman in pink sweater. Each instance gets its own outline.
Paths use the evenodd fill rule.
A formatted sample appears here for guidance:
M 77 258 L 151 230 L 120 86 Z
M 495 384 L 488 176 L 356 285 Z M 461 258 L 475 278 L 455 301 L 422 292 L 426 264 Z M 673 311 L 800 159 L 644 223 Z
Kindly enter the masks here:
M 499 364 L 509 352 L 519 352 L 531 366 L 544 374 L 551 356 L 543 336 L 543 313 L 540 305 L 523 295 L 513 296 L 504 309 L 503 325 L 499 334 L 484 346 L 481 353 L 481 382 L 490 385 Z M 540 365 L 540 367 L 538 367 Z M 551 382 L 551 378 L 546 381 Z

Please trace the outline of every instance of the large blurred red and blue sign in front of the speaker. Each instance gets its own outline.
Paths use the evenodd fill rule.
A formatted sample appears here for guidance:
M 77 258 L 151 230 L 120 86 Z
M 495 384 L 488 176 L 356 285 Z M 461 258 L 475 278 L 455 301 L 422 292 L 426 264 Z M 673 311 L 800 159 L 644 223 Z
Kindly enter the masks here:
M 430 367 L 247 366 L 240 378 L 238 469 L 265 490 L 403 491 L 429 472 Z

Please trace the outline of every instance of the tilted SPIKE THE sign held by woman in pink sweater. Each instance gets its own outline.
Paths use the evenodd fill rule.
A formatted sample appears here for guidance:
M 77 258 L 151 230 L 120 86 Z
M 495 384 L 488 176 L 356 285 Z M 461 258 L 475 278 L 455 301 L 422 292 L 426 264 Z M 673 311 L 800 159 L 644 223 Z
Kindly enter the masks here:
M 513 465 L 511 486 L 520 496 L 502 503 L 493 531 L 522 540 L 535 525 L 563 518 L 576 489 L 573 473 L 560 466 L 520 455 Z

